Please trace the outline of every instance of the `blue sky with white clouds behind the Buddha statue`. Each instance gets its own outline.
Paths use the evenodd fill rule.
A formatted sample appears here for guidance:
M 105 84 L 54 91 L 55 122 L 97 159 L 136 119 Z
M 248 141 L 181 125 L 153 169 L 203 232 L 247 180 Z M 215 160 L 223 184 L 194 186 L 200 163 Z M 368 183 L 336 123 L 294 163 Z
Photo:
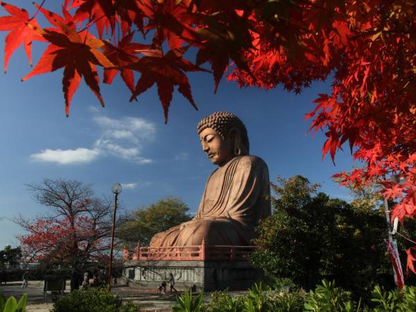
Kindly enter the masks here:
M 28 8 L 27 1 L 9 1 Z M 56 1 L 58 2 L 58 1 Z M 46 8 L 56 8 L 46 1 Z M 49 5 L 52 3 L 52 6 Z M 3 11 L 0 16 L 6 15 Z M 41 21 L 42 24 L 42 21 Z M 43 24 L 45 25 L 45 24 Z M 5 32 L 0 33 L 0 64 L 3 64 Z M 34 63 L 42 50 L 35 42 Z M 0 248 L 17 244 L 21 229 L 8 218 L 44 214 L 25 184 L 44 178 L 67 178 L 91 184 L 98 196 L 111 196 L 114 182 L 123 184 L 120 200 L 124 209 L 156 202 L 166 196 L 180 197 L 195 212 L 206 179 L 214 166 L 202 152 L 196 124 L 218 110 L 233 112 L 245 123 L 250 153 L 268 164 L 270 179 L 278 175 L 304 175 L 322 183 L 321 191 L 347 199 L 348 191 L 331 175 L 352 168 L 348 148 L 322 161 L 324 135 L 307 130 L 304 114 L 313 109 L 318 93 L 328 92 L 328 83 L 314 83 L 302 94 L 288 94 L 280 87 L 269 92 L 240 89 L 223 80 L 217 94 L 209 73 L 189 75 L 193 98 L 199 110 L 175 92 L 168 123 L 155 87 L 129 103 L 130 93 L 119 77 L 112 85 L 101 84 L 106 107 L 85 83 L 73 96 L 71 114 L 64 114 L 62 70 L 35 76 L 24 83 L 31 70 L 19 48 L 0 75 Z M 102 78 L 102 76 L 101 76 Z

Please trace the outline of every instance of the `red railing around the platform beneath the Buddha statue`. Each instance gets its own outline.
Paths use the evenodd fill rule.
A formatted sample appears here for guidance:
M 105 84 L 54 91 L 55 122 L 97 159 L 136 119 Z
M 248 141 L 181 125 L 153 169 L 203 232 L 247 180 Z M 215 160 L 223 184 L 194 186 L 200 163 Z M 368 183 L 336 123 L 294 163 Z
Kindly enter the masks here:
M 255 246 L 230 245 L 201 245 L 195 246 L 168 246 L 168 247 L 141 247 L 137 245 L 134 251 L 124 249 L 125 260 L 144 261 L 204 261 L 204 260 L 247 260 L 248 256 L 256 250 Z

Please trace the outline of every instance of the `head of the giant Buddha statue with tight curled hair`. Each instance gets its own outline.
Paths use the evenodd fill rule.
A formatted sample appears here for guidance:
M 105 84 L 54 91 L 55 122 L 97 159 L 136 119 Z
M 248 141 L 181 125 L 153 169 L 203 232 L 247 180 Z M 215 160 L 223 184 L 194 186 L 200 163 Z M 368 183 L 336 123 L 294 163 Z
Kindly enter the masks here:
M 223 166 L 236 156 L 248 155 L 249 142 L 244 123 L 230 112 L 214 112 L 197 126 L 202 150 L 213 164 Z

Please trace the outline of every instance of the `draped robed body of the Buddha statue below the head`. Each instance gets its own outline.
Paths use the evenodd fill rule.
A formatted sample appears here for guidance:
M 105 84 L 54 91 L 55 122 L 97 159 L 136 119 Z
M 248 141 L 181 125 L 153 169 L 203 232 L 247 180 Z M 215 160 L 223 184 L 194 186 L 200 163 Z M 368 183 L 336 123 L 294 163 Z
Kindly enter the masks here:
M 254 227 L 270 216 L 268 168 L 257 156 L 234 157 L 205 186 L 192 220 L 153 236 L 150 247 L 252 245 Z

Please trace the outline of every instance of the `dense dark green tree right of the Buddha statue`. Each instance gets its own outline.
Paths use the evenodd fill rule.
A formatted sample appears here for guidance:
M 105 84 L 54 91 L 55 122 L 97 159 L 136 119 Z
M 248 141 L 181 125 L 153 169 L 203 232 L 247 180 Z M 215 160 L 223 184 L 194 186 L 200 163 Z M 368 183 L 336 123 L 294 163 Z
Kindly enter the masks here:
M 306 289 L 324 278 L 360 295 L 377 283 L 393 286 L 383 211 L 316 193 L 318 184 L 300 175 L 279 178 L 272 189 L 273 213 L 257 229 L 254 266 Z

